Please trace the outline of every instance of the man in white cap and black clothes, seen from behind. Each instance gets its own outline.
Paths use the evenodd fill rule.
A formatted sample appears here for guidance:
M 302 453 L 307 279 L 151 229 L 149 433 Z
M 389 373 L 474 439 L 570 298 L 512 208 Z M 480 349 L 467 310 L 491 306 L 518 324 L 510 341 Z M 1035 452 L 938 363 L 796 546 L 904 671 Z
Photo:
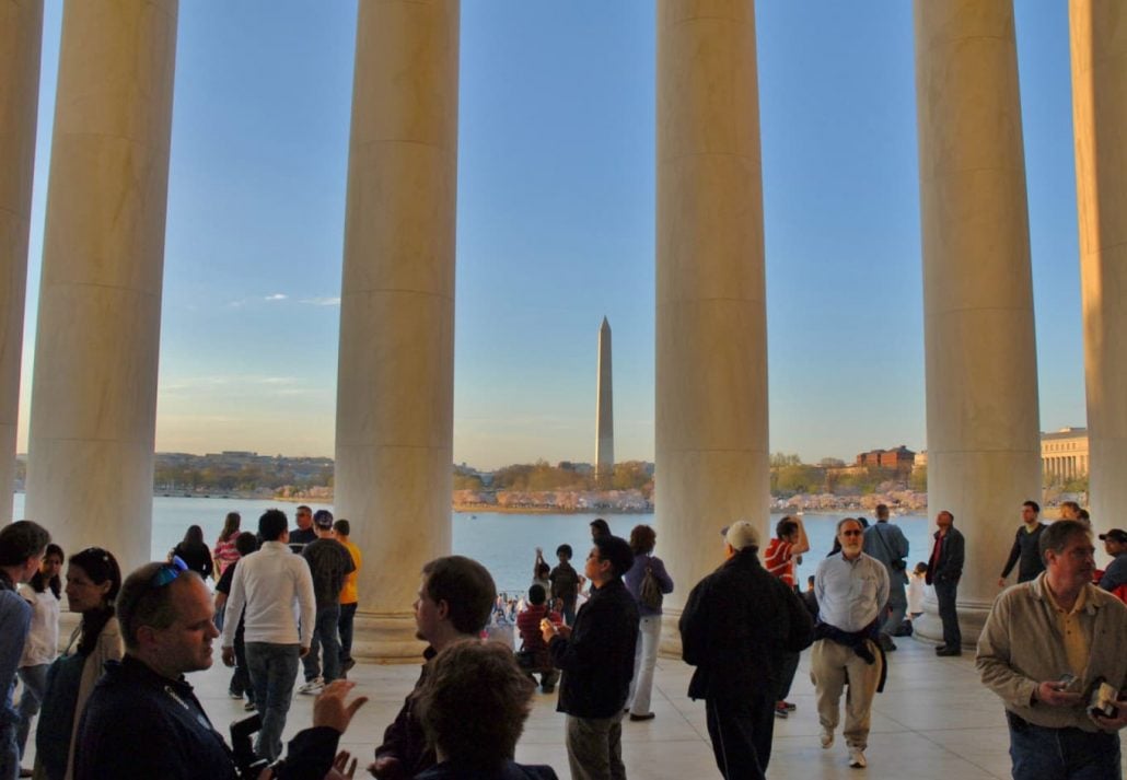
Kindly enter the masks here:
M 716 763 L 729 780 L 764 778 L 783 654 L 813 638 L 809 613 L 763 568 L 758 547 L 746 520 L 726 529 L 724 564 L 696 584 L 681 614 L 682 656 L 696 667 L 689 695 L 704 699 Z

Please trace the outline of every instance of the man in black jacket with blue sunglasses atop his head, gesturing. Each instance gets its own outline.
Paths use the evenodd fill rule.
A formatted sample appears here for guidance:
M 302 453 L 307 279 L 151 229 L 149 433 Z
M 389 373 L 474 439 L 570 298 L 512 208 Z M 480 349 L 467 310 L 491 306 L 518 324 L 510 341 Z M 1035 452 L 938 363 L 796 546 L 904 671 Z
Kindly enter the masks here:
M 77 780 L 321 778 L 334 768 L 337 742 L 366 701 L 346 704 L 344 681 L 318 698 L 313 727 L 293 738 L 284 762 L 269 770 L 252 755 L 236 762 L 184 679 L 212 665 L 213 613 L 203 580 L 176 564 L 147 564 L 126 578 L 117 597 L 125 657 L 106 664 L 87 702 Z

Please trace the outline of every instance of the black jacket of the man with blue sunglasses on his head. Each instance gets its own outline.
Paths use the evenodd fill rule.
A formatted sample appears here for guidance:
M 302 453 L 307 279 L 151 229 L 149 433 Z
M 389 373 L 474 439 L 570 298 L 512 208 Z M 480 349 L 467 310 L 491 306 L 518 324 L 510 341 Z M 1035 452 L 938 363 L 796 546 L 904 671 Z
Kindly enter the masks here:
M 192 685 L 168 680 L 126 655 L 106 662 L 78 730 L 76 780 L 237 780 L 231 748 L 199 706 Z M 290 742 L 282 780 L 320 780 L 340 733 L 325 726 Z

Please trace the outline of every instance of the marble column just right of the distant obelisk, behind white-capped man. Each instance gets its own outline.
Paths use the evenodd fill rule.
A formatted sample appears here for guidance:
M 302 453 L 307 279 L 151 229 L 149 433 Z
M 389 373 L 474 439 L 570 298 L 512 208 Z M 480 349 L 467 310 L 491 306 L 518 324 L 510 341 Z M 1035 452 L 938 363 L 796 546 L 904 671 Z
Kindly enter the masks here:
M 722 560 L 720 528 L 747 518 L 769 538 L 763 260 L 754 3 L 662 0 L 655 522 L 680 583 L 665 652 L 689 591 Z

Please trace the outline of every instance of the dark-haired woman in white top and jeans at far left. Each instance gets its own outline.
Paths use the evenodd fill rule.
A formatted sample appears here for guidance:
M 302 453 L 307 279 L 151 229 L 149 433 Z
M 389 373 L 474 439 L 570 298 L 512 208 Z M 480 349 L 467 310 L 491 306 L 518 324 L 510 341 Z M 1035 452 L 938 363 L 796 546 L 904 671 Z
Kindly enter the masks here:
M 39 568 L 27 585 L 20 586 L 20 595 L 32 605 L 32 628 L 19 659 L 19 680 L 24 683 L 24 692 L 19 697 L 16 744 L 20 759 L 24 757 L 32 718 L 39 711 L 39 702 L 47 688 L 47 667 L 59 655 L 59 601 L 62 596 L 59 573 L 64 559 L 61 547 L 47 544 Z

